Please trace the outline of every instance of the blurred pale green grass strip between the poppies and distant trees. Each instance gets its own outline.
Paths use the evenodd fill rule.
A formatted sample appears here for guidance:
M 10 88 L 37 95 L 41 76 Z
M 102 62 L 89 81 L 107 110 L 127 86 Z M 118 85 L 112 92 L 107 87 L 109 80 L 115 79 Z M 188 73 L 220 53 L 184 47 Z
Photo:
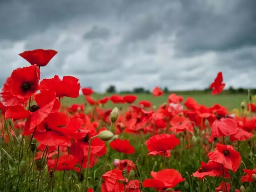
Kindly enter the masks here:
M 110 95 L 108 95 L 110 96 Z M 161 105 L 162 103 L 166 102 L 168 99 L 169 94 L 165 94 L 161 97 L 154 97 L 151 94 L 137 94 L 138 99 L 136 100 L 135 103 L 138 103 L 141 100 L 148 100 L 151 101 L 154 105 L 157 107 Z M 247 95 L 246 94 L 220 94 L 220 95 L 211 95 L 211 94 L 191 94 L 191 95 L 182 95 L 185 101 L 188 97 L 193 97 L 199 104 L 206 105 L 208 107 L 214 105 L 215 103 L 218 103 L 229 110 L 232 110 L 234 108 L 239 108 L 241 101 L 247 100 Z M 102 98 L 103 95 L 99 94 L 94 94 L 93 98 L 95 99 L 100 99 Z M 68 102 L 68 104 L 73 104 L 73 103 L 84 103 L 85 99 L 84 96 L 81 95 L 76 99 L 71 99 L 71 98 L 66 98 L 65 101 Z M 122 105 L 124 107 L 124 105 Z M 113 108 L 115 107 L 112 102 L 108 102 L 106 105 L 107 108 Z M 116 106 L 118 107 L 118 106 Z

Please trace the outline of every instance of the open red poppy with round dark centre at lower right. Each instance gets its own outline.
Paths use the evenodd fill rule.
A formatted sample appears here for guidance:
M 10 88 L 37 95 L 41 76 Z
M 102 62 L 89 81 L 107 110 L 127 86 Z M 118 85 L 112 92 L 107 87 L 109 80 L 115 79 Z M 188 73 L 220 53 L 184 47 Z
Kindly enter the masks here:
M 223 164 L 225 168 L 231 169 L 233 172 L 236 172 L 242 160 L 240 154 L 231 145 L 220 143 L 216 144 L 214 151 L 208 153 L 208 157 L 212 161 Z

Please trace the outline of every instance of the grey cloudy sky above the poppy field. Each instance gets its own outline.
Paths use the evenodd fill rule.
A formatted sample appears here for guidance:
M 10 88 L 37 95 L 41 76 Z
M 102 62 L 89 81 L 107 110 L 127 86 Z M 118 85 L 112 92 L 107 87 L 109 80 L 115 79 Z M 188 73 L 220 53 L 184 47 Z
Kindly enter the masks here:
M 76 76 L 104 91 L 208 86 L 219 71 L 255 87 L 255 0 L 0 0 L 0 84 L 28 66 L 18 54 L 58 54 L 42 78 Z

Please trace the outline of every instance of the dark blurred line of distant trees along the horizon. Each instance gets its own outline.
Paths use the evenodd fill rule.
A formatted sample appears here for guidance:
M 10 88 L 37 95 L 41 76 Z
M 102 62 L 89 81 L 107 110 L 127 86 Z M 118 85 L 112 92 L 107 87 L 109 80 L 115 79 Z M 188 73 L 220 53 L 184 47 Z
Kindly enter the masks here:
M 210 93 L 212 92 L 212 89 L 205 88 L 204 90 L 188 90 L 188 91 L 171 91 L 167 87 L 161 88 L 164 93 L 180 93 L 180 94 L 198 94 L 198 93 Z M 132 93 L 151 93 L 152 90 L 145 89 L 143 87 L 135 87 L 132 90 L 124 90 L 121 92 L 117 92 L 116 86 L 115 85 L 110 85 L 107 89 L 107 93 L 121 93 L 121 94 L 132 94 Z M 250 89 L 252 94 L 256 94 L 256 88 L 255 89 Z M 245 88 L 237 88 L 235 89 L 234 87 L 230 86 L 228 89 L 225 89 L 222 93 L 223 94 L 247 94 L 247 89 Z

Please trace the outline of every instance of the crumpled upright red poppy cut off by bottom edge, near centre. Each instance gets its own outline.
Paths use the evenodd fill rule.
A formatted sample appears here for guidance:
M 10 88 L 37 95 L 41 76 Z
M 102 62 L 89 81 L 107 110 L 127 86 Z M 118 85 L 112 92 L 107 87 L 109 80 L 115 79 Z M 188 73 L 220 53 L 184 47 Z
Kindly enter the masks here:
M 113 169 L 102 175 L 104 182 L 101 185 L 102 192 L 123 192 L 124 176 L 119 169 Z

